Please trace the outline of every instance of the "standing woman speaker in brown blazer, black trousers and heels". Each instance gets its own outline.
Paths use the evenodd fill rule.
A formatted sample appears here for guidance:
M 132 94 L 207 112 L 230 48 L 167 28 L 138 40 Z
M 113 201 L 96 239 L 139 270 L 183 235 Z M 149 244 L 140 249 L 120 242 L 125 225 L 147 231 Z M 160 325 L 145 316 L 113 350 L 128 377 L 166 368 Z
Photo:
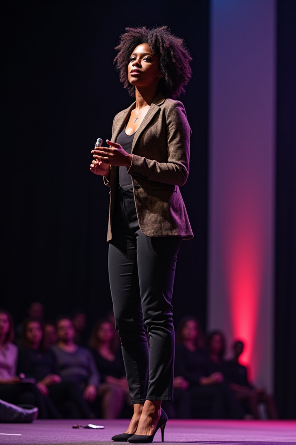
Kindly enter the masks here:
M 193 237 L 179 190 L 191 130 L 174 99 L 191 77 L 191 57 L 166 26 L 126 28 L 115 49 L 120 80 L 136 101 L 114 117 L 109 147 L 92 151 L 90 170 L 111 187 L 109 279 L 134 407 L 126 432 L 112 439 L 140 443 L 159 428 L 163 439 L 161 403 L 173 400 L 171 298 L 182 239 Z

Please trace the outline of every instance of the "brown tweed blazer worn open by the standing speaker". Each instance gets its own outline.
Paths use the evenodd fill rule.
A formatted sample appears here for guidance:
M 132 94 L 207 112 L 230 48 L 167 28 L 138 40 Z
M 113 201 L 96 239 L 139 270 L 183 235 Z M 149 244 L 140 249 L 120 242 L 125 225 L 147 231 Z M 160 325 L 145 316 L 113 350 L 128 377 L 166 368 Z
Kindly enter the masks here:
M 135 104 L 114 117 L 112 141 L 116 141 Z M 190 134 L 182 102 L 158 93 L 134 135 L 133 160 L 127 170 L 132 178 L 138 222 L 144 235 L 193 237 L 179 190 L 189 172 Z M 111 187 L 107 241 L 112 239 L 111 221 L 118 181 L 118 167 L 110 168 L 108 183 L 104 178 Z

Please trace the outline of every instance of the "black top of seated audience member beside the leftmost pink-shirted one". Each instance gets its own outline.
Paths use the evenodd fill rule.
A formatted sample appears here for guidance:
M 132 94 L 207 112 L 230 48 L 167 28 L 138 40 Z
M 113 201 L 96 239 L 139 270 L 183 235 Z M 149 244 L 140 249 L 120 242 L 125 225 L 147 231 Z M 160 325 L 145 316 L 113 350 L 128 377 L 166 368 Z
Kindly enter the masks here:
M 51 349 L 36 351 L 30 348 L 20 348 L 18 372 L 24 372 L 28 378 L 43 380 L 48 374 L 59 374 L 55 354 Z

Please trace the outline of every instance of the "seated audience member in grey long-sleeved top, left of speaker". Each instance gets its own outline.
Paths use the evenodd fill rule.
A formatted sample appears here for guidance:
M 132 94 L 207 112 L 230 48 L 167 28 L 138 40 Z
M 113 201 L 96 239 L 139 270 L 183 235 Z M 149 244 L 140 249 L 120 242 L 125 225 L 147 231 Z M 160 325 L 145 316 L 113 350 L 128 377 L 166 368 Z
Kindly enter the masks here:
M 74 382 L 86 401 L 94 402 L 98 393 L 99 372 L 91 351 L 75 344 L 75 330 L 70 318 L 60 318 L 56 331 L 58 342 L 51 349 L 57 358 L 60 376 L 63 380 Z

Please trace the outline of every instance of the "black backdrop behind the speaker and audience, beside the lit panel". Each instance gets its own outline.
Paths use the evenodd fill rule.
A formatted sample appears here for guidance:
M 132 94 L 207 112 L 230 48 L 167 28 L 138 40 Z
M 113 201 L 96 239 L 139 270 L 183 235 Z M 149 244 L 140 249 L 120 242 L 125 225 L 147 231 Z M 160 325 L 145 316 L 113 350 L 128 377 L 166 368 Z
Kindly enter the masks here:
M 30 302 L 46 318 L 80 308 L 89 325 L 112 309 L 109 194 L 89 171 L 98 137 L 133 101 L 114 71 L 126 26 L 163 25 L 185 39 L 193 77 L 183 101 L 193 134 L 182 194 L 195 238 L 182 243 L 174 317 L 206 328 L 209 1 L 2 1 L 2 289 L 16 323 Z M 277 2 L 275 392 L 296 418 L 296 2 Z

